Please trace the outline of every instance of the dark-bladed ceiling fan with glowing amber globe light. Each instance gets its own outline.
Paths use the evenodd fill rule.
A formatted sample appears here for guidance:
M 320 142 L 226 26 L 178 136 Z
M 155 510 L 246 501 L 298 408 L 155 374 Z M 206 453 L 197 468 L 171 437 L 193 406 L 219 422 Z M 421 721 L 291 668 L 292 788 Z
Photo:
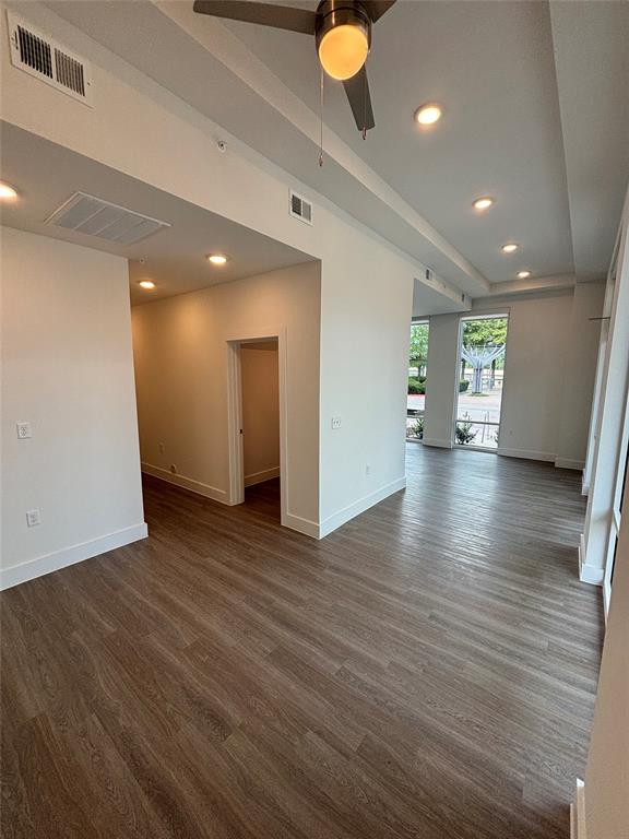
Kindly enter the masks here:
M 314 12 L 254 0 L 195 0 L 193 8 L 199 14 L 314 35 L 321 67 L 332 79 L 343 82 L 356 126 L 365 135 L 376 125 L 365 69 L 371 25 L 394 2 L 322 0 Z

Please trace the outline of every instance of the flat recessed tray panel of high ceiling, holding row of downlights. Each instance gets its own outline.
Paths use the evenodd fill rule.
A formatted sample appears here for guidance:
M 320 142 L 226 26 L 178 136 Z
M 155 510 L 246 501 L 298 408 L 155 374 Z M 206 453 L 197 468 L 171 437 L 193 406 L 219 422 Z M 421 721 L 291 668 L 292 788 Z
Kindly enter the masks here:
M 313 109 L 318 61 L 308 36 L 226 24 Z M 325 120 L 490 281 L 518 269 L 572 271 L 553 42 L 545 3 L 403 2 L 373 28 L 368 60 L 376 129 L 363 141 L 341 84 Z M 432 129 L 413 122 L 443 103 Z M 477 196 L 496 198 L 486 214 Z M 522 243 L 506 258 L 500 245 Z

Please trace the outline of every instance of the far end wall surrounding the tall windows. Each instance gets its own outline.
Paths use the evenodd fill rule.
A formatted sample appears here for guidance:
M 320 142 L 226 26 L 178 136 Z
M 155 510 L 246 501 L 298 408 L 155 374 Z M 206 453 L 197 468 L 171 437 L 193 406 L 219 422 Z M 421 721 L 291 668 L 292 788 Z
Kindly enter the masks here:
M 472 314 L 509 315 L 498 452 L 582 469 L 594 388 L 604 284 L 474 302 Z M 430 318 L 425 445 L 452 439 L 461 315 Z

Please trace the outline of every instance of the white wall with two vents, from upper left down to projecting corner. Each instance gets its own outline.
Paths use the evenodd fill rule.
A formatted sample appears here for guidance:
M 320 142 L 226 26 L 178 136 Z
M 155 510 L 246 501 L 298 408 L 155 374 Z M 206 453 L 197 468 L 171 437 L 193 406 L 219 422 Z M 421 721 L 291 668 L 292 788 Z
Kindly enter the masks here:
M 324 531 L 400 488 L 404 482 L 404 355 L 413 283 L 424 276 L 424 267 L 49 9 L 22 4 L 20 11 L 68 48 L 90 55 L 94 108 L 13 69 L 4 50 L 4 119 L 321 260 Z M 0 37 L 5 38 L 3 15 L 0 26 Z M 124 130 L 117 130 L 119 126 Z M 217 135 L 228 140 L 225 154 L 216 149 Z M 174 154 L 174 149 L 186 152 Z M 312 226 L 288 215 L 289 187 L 313 201 Z M 356 351 L 365 374 L 357 373 Z M 333 415 L 342 417 L 342 428 L 334 433 Z M 369 475 L 367 464 L 372 466 Z M 213 481 L 223 480 L 222 469 L 222 463 L 212 462 L 213 474 L 218 475 Z

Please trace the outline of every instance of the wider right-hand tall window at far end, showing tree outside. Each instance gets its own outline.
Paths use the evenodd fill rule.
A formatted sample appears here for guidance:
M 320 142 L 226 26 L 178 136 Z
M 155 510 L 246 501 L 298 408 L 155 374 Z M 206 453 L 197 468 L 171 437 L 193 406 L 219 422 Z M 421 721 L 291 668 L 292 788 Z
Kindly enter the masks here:
M 507 315 L 461 319 L 454 442 L 496 451 L 505 382 Z

